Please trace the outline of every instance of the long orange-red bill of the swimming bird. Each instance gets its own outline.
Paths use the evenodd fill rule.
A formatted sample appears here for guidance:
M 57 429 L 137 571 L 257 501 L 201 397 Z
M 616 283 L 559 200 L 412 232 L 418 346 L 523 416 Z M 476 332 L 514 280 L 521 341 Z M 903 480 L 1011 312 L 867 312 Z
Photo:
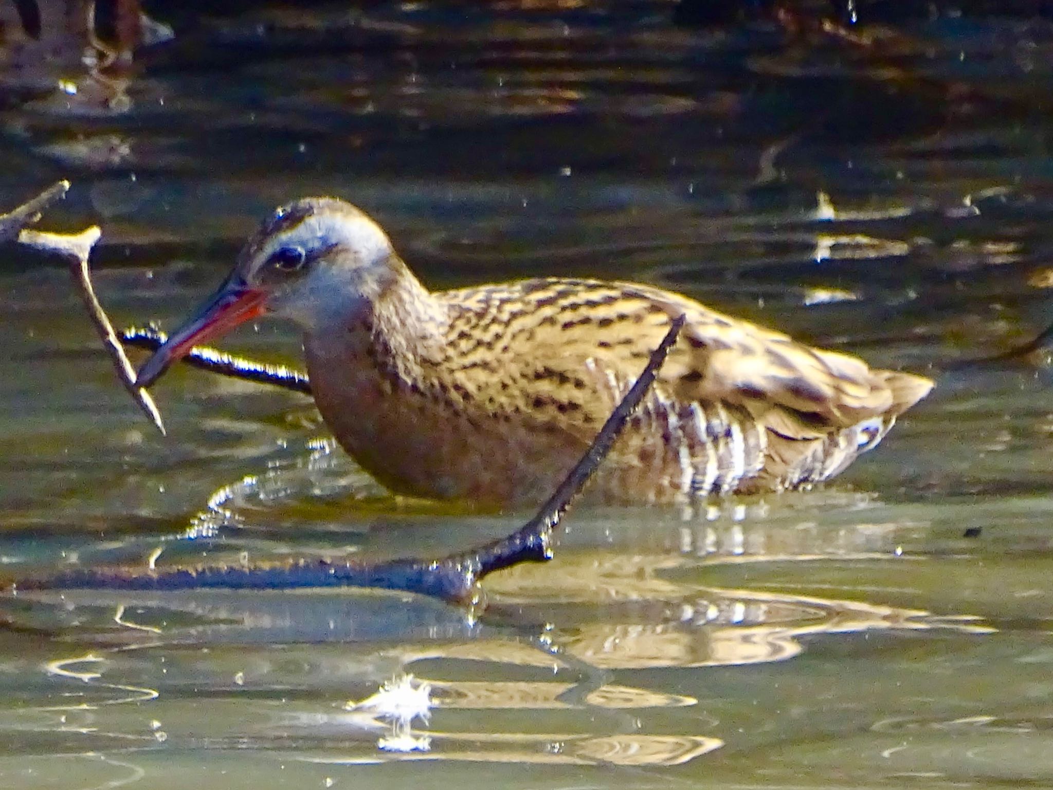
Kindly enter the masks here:
M 176 330 L 164 344 L 139 369 L 136 387 L 150 387 L 179 361 L 195 345 L 207 342 L 225 332 L 259 316 L 263 312 L 266 292 L 243 282 L 223 283 L 215 296 L 186 323 Z

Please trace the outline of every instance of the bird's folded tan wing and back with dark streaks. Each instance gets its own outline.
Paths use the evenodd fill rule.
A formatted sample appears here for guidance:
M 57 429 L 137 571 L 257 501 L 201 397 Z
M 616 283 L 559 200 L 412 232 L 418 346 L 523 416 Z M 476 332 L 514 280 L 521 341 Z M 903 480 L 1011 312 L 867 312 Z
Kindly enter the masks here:
M 656 397 L 740 407 L 788 439 L 895 417 L 932 387 L 647 285 L 525 280 L 443 296 L 458 305 L 449 341 L 465 389 L 569 427 L 601 422 L 681 314 Z

